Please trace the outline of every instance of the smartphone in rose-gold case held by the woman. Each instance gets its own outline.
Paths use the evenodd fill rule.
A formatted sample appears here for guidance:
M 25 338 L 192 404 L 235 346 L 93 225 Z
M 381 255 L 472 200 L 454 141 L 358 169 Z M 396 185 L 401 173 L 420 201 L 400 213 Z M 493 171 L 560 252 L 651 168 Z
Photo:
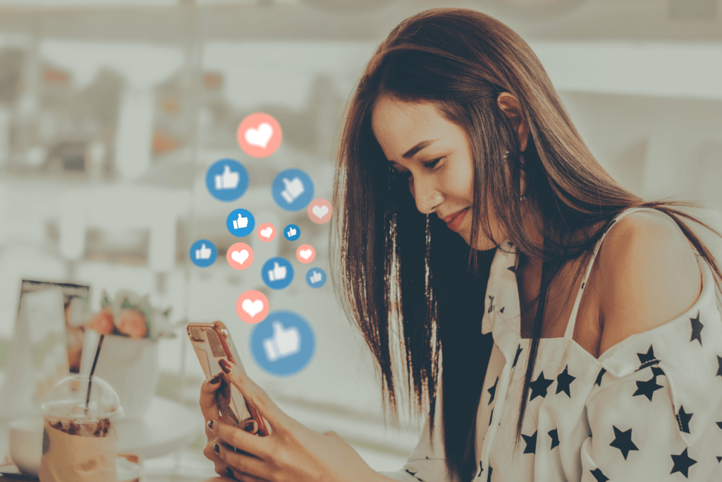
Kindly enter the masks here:
M 240 356 L 235 349 L 230 332 L 223 322 L 188 323 L 186 327 L 193 349 L 201 363 L 206 378 L 220 373 L 218 361 L 225 359 L 235 365 L 242 366 Z M 238 426 L 245 418 L 253 417 L 258 424 L 258 434 L 268 436 L 271 426 L 258 411 L 245 402 L 238 388 L 221 378 L 221 386 L 216 390 L 216 403 L 225 423 Z

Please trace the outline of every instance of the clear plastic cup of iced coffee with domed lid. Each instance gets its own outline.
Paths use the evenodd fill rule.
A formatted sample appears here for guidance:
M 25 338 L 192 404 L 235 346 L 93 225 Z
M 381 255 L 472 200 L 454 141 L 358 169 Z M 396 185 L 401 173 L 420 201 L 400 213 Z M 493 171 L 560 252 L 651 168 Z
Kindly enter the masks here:
M 71 375 L 45 397 L 41 482 L 116 482 L 116 421 L 123 416 L 118 394 L 108 382 Z

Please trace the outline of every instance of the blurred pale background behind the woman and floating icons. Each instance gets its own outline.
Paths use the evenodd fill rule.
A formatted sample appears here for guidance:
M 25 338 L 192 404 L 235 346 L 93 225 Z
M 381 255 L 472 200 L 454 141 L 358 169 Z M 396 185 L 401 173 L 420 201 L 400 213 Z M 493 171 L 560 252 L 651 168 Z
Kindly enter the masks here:
M 193 416 L 176 423 L 198 431 L 144 463 L 212 475 L 196 408 L 203 374 L 183 322 L 221 319 L 243 350 L 252 327 L 235 300 L 257 289 L 271 309 L 308 319 L 318 348 L 284 379 L 242 353 L 251 377 L 291 416 L 344 436 L 376 470 L 401 468 L 419 426 L 383 424 L 373 362 L 330 283 L 313 290 L 299 279 L 271 292 L 256 269 L 232 270 L 222 256 L 236 241 L 251 244 L 257 262 L 303 265 L 296 244 L 238 240 L 225 219 L 243 207 L 257 222 L 299 225 L 314 265 L 329 272 L 329 225 L 277 208 L 271 181 L 301 168 L 315 197 L 331 199 L 343 109 L 365 63 L 398 22 L 444 6 L 479 9 L 521 34 L 623 186 L 704 202 L 712 210 L 703 219 L 722 228 L 722 1 L 0 0 L 0 365 L 22 279 L 90 285 L 94 312 L 103 290 L 149 295 L 180 326 L 157 342 L 157 396 L 186 406 Z M 236 142 L 240 121 L 257 111 L 283 129 L 267 159 Z M 221 158 L 248 170 L 238 202 L 206 190 L 206 168 Z M 199 238 L 218 248 L 212 267 L 188 259 Z

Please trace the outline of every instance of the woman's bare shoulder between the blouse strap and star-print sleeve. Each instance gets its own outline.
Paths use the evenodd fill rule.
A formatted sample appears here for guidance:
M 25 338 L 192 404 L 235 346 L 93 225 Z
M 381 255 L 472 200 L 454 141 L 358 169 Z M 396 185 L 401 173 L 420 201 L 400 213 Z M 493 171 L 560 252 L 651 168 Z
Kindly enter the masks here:
M 612 226 L 596 260 L 599 353 L 690 309 L 702 275 L 690 241 L 662 212 L 638 211 Z

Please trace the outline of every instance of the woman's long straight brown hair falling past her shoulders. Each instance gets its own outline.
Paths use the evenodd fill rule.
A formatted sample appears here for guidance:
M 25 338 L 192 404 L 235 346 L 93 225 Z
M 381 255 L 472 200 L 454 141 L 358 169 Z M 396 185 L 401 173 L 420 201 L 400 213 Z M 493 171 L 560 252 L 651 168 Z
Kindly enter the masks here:
M 523 228 L 520 142 L 497 106 L 500 92 L 518 99 L 529 124 L 525 202 L 537 214 L 541 248 Z M 338 215 L 331 229 L 332 252 L 340 256 L 331 259 L 331 277 L 378 362 L 384 400 L 393 408 L 397 374 L 406 379 L 418 410 L 429 404 L 432 423 L 441 369 L 447 470 L 453 480 L 469 480 L 476 467 L 474 420 L 492 346 L 480 322 L 495 251 L 471 249 L 437 216 L 418 212 L 406 179 L 391 168 L 371 129 L 371 112 L 382 95 L 432 102 L 468 135 L 474 156 L 471 246 L 479 226 L 492 238 L 491 211 L 518 250 L 542 262 L 523 393 L 534 371 L 549 284 L 569 260 L 586 267 L 616 215 L 629 207 L 670 215 L 710 264 L 719 288 L 722 273 L 714 257 L 682 219 L 716 231 L 677 209 L 695 207 L 691 203 L 645 202 L 619 186 L 584 144 L 539 59 L 502 22 L 470 9 L 440 8 L 391 31 L 368 62 L 345 115 L 334 183 Z M 505 240 L 493 241 L 500 249 Z M 393 361 L 396 352 L 401 366 Z

